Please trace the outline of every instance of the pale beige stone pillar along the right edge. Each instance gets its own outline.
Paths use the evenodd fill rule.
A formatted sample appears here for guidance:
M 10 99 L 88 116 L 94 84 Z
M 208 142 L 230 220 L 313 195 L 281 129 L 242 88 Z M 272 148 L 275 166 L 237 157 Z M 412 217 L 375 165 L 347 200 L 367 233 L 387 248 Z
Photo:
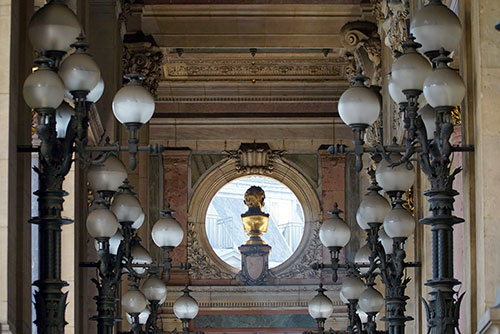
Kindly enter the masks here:
M 466 2 L 466 45 L 471 67 L 468 68 L 467 132 L 474 139 L 475 153 L 469 160 L 465 177 L 473 182 L 475 192 L 475 258 L 477 281 L 477 317 L 493 305 L 495 291 L 500 286 L 500 168 L 498 143 L 500 142 L 500 32 L 494 29 L 500 18 L 500 7 L 495 0 Z M 470 15 L 470 16 L 469 16 Z M 470 18 L 469 18 L 470 17 Z M 470 171 L 471 167 L 475 170 Z M 469 169 L 469 170 L 468 170 Z M 472 173 L 472 174 L 470 174 Z M 474 207 L 473 207 L 474 208 Z M 474 215 L 474 211 L 471 211 Z M 473 268 L 472 268 L 473 269 Z M 474 278 L 472 278 L 474 279 Z M 470 288 L 474 293 L 474 285 Z M 474 303 L 474 301 L 472 301 Z

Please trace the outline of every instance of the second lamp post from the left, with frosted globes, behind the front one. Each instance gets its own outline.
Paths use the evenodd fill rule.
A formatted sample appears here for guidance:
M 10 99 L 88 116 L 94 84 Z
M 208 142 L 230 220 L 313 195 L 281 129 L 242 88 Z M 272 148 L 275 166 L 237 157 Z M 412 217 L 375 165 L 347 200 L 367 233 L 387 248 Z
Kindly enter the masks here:
M 87 218 L 89 234 L 96 239 L 99 261 L 86 264 L 98 268 L 98 279 L 94 283 L 98 289 L 97 321 L 99 334 L 113 332 L 116 320 L 116 292 L 125 272 L 129 275 L 131 288 L 122 297 L 122 305 L 130 316 L 132 332 L 141 332 L 146 325 L 146 333 L 156 333 L 158 307 L 166 297 L 166 286 L 160 279 L 163 274 L 166 281 L 170 279 L 172 268 L 189 269 L 189 264 L 174 265 L 169 253 L 184 238 L 184 231 L 167 205 L 162 217 L 153 225 L 152 238 L 161 248 L 161 259 L 152 263 L 149 253 L 140 245 L 136 235 L 144 222 L 144 213 L 128 181 L 125 166 L 114 155 L 110 155 L 102 165 L 92 166 L 88 172 L 90 187 L 99 196 L 92 205 L 93 209 Z M 116 191 L 119 182 L 123 184 Z M 111 200 L 109 205 L 109 200 Z M 111 247 L 112 245 L 112 247 Z M 142 291 L 138 289 L 138 281 L 149 274 Z M 142 307 L 142 301 L 148 300 L 150 309 Z M 142 308 L 141 308 L 142 307 Z M 148 317 L 145 314 L 148 313 Z M 142 315 L 142 316 L 141 316 Z M 144 320 L 146 318 L 147 320 Z

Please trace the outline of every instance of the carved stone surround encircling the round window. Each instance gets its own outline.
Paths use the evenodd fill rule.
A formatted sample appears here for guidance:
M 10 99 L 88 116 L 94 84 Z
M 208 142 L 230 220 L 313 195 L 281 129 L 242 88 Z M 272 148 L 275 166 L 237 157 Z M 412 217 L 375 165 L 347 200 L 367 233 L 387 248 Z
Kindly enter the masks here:
M 312 278 L 311 260 L 321 261 L 318 244 L 321 202 L 308 178 L 284 158 L 273 162 L 272 172 L 242 174 L 238 160 L 227 158 L 212 166 L 196 184 L 188 204 L 188 261 L 193 264 L 193 279 L 234 279 L 238 269 L 220 259 L 210 246 L 205 229 L 208 206 L 215 194 L 228 182 L 247 175 L 262 175 L 282 182 L 297 196 L 304 211 L 304 233 L 296 251 L 285 262 L 271 269 L 277 278 Z

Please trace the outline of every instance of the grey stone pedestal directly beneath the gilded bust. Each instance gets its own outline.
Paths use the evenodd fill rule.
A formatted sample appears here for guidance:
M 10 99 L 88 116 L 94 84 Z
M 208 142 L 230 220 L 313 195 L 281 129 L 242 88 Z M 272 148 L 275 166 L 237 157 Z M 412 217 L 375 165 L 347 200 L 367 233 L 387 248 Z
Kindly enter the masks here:
M 238 279 L 248 285 L 264 284 L 269 275 L 269 245 L 241 245 L 241 271 Z

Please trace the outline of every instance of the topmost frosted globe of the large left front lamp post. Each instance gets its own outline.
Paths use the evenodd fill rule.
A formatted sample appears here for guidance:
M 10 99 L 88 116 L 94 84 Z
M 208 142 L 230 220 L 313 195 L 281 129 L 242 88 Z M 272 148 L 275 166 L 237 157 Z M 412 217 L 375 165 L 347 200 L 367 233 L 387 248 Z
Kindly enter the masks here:
M 28 26 L 30 42 L 38 51 L 66 52 L 81 31 L 75 13 L 55 1 L 37 10 Z

